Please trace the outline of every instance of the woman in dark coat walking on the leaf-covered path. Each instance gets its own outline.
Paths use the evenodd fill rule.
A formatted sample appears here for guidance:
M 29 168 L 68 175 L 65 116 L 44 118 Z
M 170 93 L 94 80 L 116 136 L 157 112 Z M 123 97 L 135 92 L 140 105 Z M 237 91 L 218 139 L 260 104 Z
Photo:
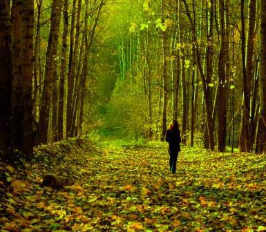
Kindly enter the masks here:
M 173 123 L 170 125 L 170 128 L 167 130 L 167 135 L 165 140 L 169 143 L 169 166 L 171 173 L 175 173 L 176 169 L 176 160 L 178 160 L 178 152 L 181 151 L 180 149 L 180 130 L 179 125 L 176 120 L 173 120 Z

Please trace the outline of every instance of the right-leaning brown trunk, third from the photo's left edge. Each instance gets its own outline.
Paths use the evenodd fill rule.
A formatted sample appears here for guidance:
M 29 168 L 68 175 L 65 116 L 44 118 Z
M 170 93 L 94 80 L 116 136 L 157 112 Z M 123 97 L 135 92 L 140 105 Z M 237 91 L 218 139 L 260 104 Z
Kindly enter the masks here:
M 46 50 L 46 68 L 44 72 L 44 88 L 41 97 L 39 113 L 39 143 L 48 141 L 48 124 L 50 113 L 50 99 L 55 74 L 55 56 L 57 55 L 58 33 L 61 18 L 62 0 L 54 0 L 51 11 L 51 23 L 48 45 Z

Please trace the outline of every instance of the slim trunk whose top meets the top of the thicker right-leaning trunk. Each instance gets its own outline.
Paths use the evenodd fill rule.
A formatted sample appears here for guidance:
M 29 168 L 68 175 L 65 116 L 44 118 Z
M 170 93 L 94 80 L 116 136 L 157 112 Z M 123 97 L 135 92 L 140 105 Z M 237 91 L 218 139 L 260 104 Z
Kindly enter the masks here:
M 57 115 L 58 140 L 64 138 L 64 96 L 65 96 L 65 79 L 66 79 L 66 55 L 68 50 L 68 0 L 64 0 L 63 12 L 64 12 L 64 29 L 62 35 L 59 100 L 58 100 L 58 115 Z

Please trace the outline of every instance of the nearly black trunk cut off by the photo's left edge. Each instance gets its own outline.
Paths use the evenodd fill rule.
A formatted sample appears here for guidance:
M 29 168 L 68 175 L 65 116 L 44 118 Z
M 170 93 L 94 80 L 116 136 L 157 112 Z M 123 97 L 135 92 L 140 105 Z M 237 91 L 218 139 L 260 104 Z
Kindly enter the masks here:
M 10 34 L 10 1 L 0 0 L 0 150 L 5 160 L 11 157 L 12 64 Z

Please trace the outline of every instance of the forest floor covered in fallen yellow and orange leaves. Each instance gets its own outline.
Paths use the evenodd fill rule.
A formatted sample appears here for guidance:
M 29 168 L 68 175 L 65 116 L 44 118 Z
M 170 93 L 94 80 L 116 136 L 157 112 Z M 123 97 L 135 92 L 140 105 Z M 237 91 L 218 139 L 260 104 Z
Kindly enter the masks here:
M 31 163 L 0 162 L 0 231 L 266 231 L 266 158 L 167 144 L 40 146 Z M 41 188 L 48 173 L 75 180 Z

